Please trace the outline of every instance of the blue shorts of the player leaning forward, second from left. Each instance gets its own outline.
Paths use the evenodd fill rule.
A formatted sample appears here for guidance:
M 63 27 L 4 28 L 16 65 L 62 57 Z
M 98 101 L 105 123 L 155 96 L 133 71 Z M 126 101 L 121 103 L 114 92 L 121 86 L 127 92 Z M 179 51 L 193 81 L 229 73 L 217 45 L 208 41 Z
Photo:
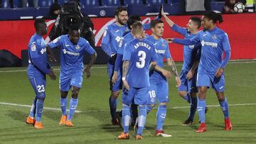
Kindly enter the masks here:
M 82 70 L 72 74 L 63 74 L 60 72 L 60 91 L 68 92 L 70 87 L 82 87 Z

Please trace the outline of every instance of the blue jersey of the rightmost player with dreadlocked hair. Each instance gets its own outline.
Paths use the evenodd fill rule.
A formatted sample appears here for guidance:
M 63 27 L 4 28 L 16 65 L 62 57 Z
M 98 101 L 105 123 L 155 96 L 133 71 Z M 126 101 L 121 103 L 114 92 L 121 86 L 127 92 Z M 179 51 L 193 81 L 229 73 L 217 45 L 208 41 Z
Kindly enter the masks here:
M 228 34 L 220 28 L 202 30 L 191 41 L 201 42 L 201 59 L 198 73 L 215 74 L 222 64 L 223 51 L 230 51 Z

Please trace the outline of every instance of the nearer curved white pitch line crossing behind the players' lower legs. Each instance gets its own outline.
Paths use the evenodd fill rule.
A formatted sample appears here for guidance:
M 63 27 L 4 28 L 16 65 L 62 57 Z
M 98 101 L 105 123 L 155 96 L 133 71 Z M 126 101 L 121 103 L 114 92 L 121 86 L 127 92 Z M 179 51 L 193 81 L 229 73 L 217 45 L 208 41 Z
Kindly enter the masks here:
M 24 105 L 24 104 L 12 104 L 12 103 L 5 103 L 5 102 L 0 102 L 2 105 L 9 105 L 9 106 L 21 106 L 21 107 L 28 107 L 31 108 L 29 105 Z M 255 106 L 256 104 L 228 104 L 228 106 Z M 220 105 L 207 105 L 207 107 L 219 107 Z M 190 106 L 176 106 L 176 107 L 169 107 L 167 109 L 187 109 L 190 108 Z M 61 111 L 61 109 L 56 109 L 56 108 L 48 108 L 44 107 L 43 109 L 48 109 L 48 110 L 54 110 L 54 111 Z M 157 108 L 154 108 L 157 109 Z M 119 109 L 121 110 L 121 109 Z M 102 110 L 94 110 L 94 111 L 75 111 L 76 113 L 82 113 L 82 112 L 102 112 L 102 111 L 110 111 L 106 109 Z

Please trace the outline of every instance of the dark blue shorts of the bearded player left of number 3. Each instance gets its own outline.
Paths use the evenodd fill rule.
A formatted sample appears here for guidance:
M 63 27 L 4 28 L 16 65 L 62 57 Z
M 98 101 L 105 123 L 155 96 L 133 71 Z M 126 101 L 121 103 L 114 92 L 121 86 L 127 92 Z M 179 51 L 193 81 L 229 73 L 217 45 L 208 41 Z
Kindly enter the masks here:
M 114 74 L 114 65 L 107 63 L 107 73 L 110 81 L 110 90 L 112 92 L 117 92 L 122 89 L 122 73 L 121 70 L 118 70 L 117 74 L 117 82 L 115 84 L 112 83 L 112 77 Z

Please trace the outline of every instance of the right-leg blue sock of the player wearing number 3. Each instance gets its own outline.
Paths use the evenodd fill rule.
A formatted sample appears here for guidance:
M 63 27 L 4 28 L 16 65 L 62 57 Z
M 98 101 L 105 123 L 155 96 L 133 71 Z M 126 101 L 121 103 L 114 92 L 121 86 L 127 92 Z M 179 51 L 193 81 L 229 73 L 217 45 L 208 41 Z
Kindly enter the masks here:
M 146 124 L 146 106 L 139 106 L 137 135 L 142 135 L 145 124 Z

